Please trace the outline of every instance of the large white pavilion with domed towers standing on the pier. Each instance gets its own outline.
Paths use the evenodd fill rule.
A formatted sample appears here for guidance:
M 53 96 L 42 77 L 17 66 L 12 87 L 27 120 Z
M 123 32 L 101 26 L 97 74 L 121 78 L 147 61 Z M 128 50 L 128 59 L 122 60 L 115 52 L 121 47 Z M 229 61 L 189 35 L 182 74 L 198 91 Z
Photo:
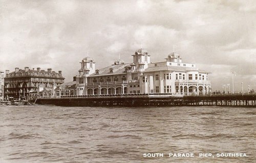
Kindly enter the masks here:
M 84 58 L 76 76 L 77 95 L 210 94 L 210 72 L 198 69 L 196 64 L 182 63 L 176 52 L 156 63 L 151 62 L 150 54 L 143 48 L 132 56 L 132 63 L 119 59 L 101 69 L 95 69 L 92 58 Z

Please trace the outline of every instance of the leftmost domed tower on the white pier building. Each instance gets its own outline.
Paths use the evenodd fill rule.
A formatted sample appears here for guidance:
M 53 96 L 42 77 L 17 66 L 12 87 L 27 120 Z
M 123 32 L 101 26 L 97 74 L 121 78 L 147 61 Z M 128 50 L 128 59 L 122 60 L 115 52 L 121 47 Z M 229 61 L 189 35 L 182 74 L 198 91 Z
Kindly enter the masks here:
M 90 74 L 95 72 L 95 62 L 91 57 L 86 57 L 82 59 L 82 62 L 80 63 L 81 63 L 81 69 L 79 71 L 82 70 L 82 75 L 89 76 Z

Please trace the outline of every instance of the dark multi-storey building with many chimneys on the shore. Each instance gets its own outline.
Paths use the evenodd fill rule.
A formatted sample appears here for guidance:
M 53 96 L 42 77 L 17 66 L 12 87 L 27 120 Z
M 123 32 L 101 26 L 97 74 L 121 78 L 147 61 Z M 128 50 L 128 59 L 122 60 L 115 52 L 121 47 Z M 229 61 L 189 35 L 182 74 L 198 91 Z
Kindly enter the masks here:
M 31 70 L 25 67 L 24 70 L 15 68 L 15 71 L 6 70 L 4 78 L 4 98 L 24 98 L 28 99 L 31 94 L 37 94 L 39 86 L 43 88 L 52 88 L 54 84 L 64 83 L 64 77 L 61 71 L 55 72 L 51 68 L 47 71 L 41 70 L 39 67 Z

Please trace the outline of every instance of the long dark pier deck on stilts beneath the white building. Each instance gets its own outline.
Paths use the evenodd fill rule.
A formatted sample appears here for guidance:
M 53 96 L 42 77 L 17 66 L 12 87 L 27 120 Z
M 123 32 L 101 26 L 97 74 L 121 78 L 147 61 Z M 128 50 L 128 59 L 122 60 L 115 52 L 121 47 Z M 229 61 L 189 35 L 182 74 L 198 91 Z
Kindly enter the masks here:
M 256 94 L 172 95 L 123 94 L 40 97 L 37 104 L 60 106 L 256 106 Z

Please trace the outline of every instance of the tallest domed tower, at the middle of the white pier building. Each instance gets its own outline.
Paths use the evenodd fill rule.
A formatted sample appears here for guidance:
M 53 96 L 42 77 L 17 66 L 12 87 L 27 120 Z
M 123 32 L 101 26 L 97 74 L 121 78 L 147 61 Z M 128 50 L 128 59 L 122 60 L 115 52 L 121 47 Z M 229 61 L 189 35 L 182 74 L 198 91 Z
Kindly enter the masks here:
M 148 55 L 146 49 L 140 48 L 132 56 L 135 65 L 139 65 L 140 71 L 144 71 L 148 67 L 147 64 L 150 63 L 150 55 Z

